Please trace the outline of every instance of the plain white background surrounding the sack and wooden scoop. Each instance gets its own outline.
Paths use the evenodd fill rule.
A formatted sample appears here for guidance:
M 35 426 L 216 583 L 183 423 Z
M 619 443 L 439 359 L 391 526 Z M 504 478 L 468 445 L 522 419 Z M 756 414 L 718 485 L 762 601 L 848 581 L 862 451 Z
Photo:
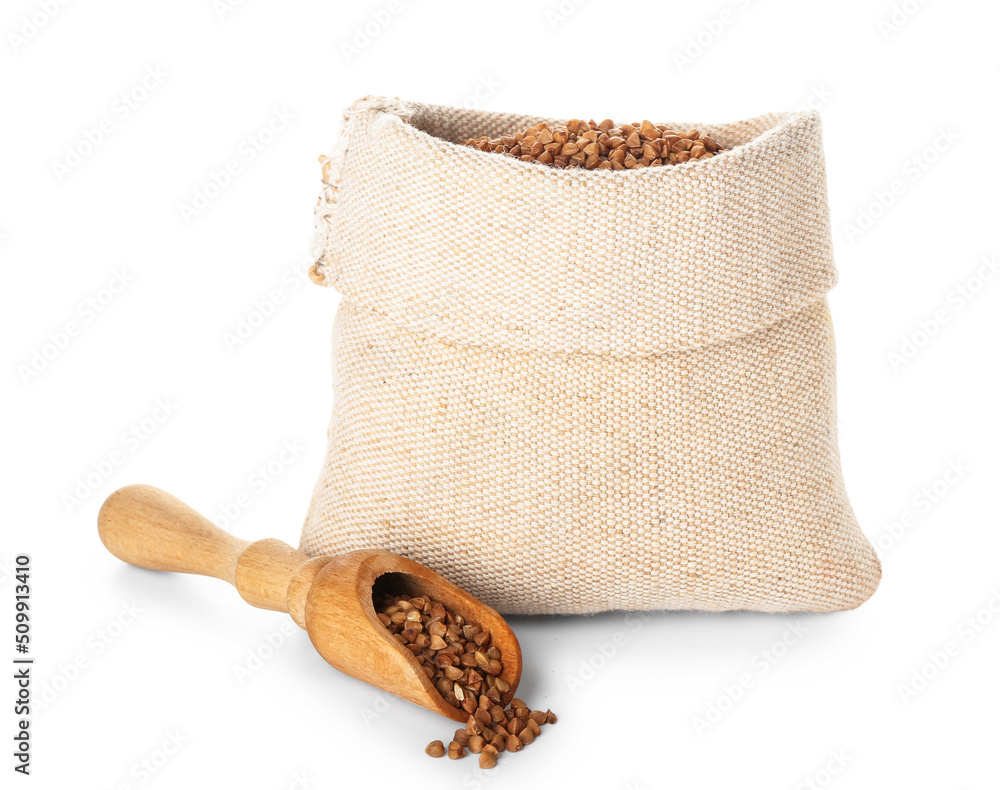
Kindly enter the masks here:
M 1000 253 L 995 3 L 401 0 L 347 54 L 387 0 L 45 7 L 0 13 L 0 638 L 26 552 L 47 702 L 33 774 L 5 787 L 997 787 L 1000 278 L 977 274 Z M 282 634 L 284 615 L 112 558 L 97 509 L 140 481 L 213 518 L 242 495 L 234 533 L 297 542 L 337 303 L 302 278 L 316 158 L 365 94 L 620 121 L 818 106 L 841 447 L 884 561 L 874 598 L 825 616 L 514 618 L 521 696 L 560 722 L 490 773 L 425 757 L 449 724 L 330 669 L 303 633 Z M 251 158 L 275 111 L 293 117 Z M 73 150 L 87 155 L 71 167 Z M 231 160 L 239 173 L 186 219 Z M 105 291 L 122 270 L 127 287 Z M 276 290 L 282 303 L 227 347 Z M 76 336 L 47 347 L 69 322 Z M 286 442 L 300 449 L 281 465 Z M 272 462 L 280 475 L 259 484 Z M 925 668 L 950 642 L 946 665 Z M 266 660 L 241 682 L 251 655 Z

